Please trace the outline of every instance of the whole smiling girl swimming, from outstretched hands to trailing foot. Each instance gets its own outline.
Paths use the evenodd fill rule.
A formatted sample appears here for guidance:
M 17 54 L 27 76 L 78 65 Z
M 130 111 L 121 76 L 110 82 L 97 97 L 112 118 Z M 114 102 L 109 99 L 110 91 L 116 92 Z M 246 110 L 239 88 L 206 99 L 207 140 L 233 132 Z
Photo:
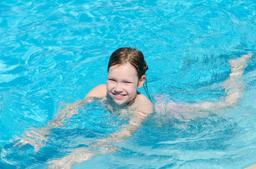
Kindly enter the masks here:
M 247 66 L 248 58 L 251 56 L 252 54 L 248 54 L 237 60 L 230 61 L 231 75 L 224 84 L 227 96 L 223 98 L 223 101 L 216 103 L 204 102 L 202 104 L 175 104 L 171 101 L 157 101 L 155 104 L 156 112 L 168 113 L 178 120 L 190 120 L 198 116 L 208 115 L 219 108 L 235 106 L 243 91 L 240 77 Z M 92 89 L 85 99 L 76 101 L 74 104 L 68 104 L 66 108 L 57 113 L 54 120 L 50 121 L 47 127 L 26 132 L 23 139 L 14 146 L 32 144 L 35 147 L 35 151 L 38 151 L 47 142 L 48 138 L 45 135 L 52 128 L 64 125 L 66 119 L 78 113 L 80 106 L 91 103 L 94 98 L 98 98 L 103 104 L 111 106 L 111 108 L 108 108 L 109 111 L 129 111 L 132 115 L 129 124 L 124 126 L 124 130 L 115 132 L 105 139 L 96 140 L 95 144 L 91 144 L 88 148 L 75 149 L 68 156 L 60 160 L 51 161 L 51 165 L 48 168 L 71 168 L 76 163 L 87 161 L 96 154 L 116 151 L 117 148 L 109 143 L 115 144 L 115 142 L 122 142 L 127 139 L 154 111 L 146 87 L 146 70 L 148 70 L 148 66 L 141 51 L 132 48 L 117 49 L 110 56 L 107 66 L 107 84 L 100 84 Z M 137 92 L 137 88 L 142 86 L 146 89 L 150 100 Z M 20 138 L 17 137 L 17 139 Z

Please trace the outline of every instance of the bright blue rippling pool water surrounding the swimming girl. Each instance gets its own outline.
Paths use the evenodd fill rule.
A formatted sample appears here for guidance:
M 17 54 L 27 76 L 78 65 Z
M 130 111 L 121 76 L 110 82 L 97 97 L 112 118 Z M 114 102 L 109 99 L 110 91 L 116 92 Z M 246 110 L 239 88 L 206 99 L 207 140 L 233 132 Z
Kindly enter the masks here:
M 106 82 L 112 51 L 132 46 L 149 65 L 149 92 L 174 101 L 220 101 L 228 60 L 255 54 L 254 1 L 0 2 L 0 168 L 47 168 L 79 142 L 126 123 L 100 104 L 52 131 L 52 142 L 13 147 L 16 136 L 52 120 Z M 154 114 L 121 150 L 74 168 L 245 168 L 256 163 L 256 59 L 239 106 L 190 122 Z M 141 92 L 144 92 L 141 90 Z

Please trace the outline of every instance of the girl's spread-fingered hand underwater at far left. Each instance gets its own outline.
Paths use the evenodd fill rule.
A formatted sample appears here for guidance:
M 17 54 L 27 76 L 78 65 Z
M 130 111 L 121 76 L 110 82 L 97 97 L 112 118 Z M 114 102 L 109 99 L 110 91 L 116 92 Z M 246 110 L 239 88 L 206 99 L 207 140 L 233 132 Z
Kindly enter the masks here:
M 38 128 L 30 129 L 30 131 L 27 131 L 25 132 L 25 134 L 23 134 L 22 138 L 16 137 L 15 139 L 13 139 L 14 142 L 20 140 L 16 142 L 16 144 L 14 144 L 13 146 L 20 145 L 18 148 L 21 148 L 21 146 L 24 146 L 25 144 L 31 144 L 32 146 L 34 146 L 36 154 L 40 148 L 45 146 L 47 140 L 50 138 L 45 137 L 46 134 L 48 134 L 47 130 Z

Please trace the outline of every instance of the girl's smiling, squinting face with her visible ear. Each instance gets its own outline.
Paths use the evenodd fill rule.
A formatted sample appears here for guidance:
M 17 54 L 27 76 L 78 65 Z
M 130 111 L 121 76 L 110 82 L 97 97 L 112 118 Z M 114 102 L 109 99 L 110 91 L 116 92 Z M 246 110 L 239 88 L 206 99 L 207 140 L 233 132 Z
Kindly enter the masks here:
M 113 65 L 108 70 L 107 94 L 116 104 L 127 104 L 136 97 L 137 87 L 141 88 L 144 80 L 138 79 L 136 70 L 130 63 Z

